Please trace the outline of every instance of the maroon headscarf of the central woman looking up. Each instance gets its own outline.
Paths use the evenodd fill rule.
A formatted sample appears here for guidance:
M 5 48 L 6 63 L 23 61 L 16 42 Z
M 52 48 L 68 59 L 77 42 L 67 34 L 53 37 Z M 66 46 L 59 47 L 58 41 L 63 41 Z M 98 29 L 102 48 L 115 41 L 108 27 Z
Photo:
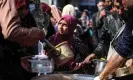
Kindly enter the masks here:
M 61 42 L 68 41 L 69 45 L 72 46 L 73 33 L 74 30 L 76 29 L 77 20 L 74 16 L 71 15 L 65 15 L 61 17 L 60 21 L 61 20 L 65 20 L 66 23 L 68 24 L 68 34 L 62 35 L 57 32 L 54 36 L 50 38 L 50 41 L 54 46 L 56 46 Z

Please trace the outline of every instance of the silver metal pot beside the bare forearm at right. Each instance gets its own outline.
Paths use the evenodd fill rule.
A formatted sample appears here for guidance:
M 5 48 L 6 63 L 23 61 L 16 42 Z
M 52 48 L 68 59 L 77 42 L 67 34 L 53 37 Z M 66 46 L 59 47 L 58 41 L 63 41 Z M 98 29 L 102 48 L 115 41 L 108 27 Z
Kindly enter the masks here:
M 93 60 L 95 64 L 95 75 L 99 75 L 105 68 L 107 61 L 106 60 Z

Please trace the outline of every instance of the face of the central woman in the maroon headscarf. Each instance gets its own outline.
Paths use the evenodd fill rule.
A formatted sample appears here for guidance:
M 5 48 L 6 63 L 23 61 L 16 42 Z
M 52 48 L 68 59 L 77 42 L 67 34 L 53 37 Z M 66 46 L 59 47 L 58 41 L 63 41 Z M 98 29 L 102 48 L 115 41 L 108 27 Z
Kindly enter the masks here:
M 67 34 L 68 33 L 68 24 L 66 23 L 65 20 L 61 20 L 58 23 L 58 32 L 60 34 Z

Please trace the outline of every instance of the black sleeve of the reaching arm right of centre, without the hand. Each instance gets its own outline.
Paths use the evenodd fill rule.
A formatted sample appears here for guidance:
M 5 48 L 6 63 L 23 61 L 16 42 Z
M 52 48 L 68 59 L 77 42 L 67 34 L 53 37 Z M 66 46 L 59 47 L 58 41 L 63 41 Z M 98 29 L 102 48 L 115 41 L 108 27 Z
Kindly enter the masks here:
M 104 25 L 101 28 L 100 42 L 98 43 L 96 49 L 93 53 L 98 57 L 104 57 L 108 52 L 110 39 L 110 33 L 108 33 L 108 22 L 105 20 Z

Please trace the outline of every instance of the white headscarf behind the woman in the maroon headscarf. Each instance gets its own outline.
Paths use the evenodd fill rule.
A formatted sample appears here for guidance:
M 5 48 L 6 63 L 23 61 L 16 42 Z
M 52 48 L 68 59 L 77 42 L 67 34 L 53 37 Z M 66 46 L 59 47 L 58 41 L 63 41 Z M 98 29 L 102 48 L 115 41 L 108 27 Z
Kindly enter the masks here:
M 76 16 L 76 11 L 73 5 L 68 4 L 63 8 L 62 11 L 62 16 L 64 15 L 72 15 L 72 16 Z

